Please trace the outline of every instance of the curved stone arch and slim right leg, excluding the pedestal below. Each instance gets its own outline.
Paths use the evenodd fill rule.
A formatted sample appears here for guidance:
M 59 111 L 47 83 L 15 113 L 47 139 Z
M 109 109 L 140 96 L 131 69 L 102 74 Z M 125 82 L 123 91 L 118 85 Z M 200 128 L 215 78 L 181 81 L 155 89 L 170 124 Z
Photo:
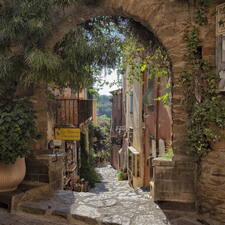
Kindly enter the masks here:
M 105 0 L 98 7 L 74 5 L 59 14 L 52 36 L 46 47 L 52 49 L 75 25 L 97 16 L 124 16 L 133 18 L 151 30 L 166 48 L 173 73 L 173 148 L 175 159 L 186 159 L 184 148 L 186 112 L 183 105 L 180 73 L 185 66 L 184 34 L 190 21 L 190 8 L 179 1 L 157 0 Z

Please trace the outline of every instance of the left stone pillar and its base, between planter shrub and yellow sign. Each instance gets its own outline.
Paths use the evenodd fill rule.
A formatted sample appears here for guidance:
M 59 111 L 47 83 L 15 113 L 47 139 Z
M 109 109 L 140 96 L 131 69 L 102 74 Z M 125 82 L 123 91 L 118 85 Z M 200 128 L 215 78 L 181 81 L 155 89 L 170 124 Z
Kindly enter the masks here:
M 49 104 L 46 85 L 34 89 L 31 101 L 36 111 L 40 139 L 31 144 L 31 155 L 26 159 L 25 181 L 48 183 L 52 190 L 62 189 L 64 151 L 56 155 L 48 148 L 49 141 L 54 139 L 55 118 L 54 108 Z

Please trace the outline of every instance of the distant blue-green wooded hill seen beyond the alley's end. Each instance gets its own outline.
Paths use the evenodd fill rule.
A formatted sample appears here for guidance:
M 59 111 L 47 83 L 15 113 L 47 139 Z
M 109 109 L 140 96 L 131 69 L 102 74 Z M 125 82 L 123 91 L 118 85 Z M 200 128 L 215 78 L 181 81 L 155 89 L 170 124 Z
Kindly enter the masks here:
M 99 116 L 106 115 L 111 118 L 112 103 L 110 102 L 111 96 L 100 95 L 97 99 L 97 114 Z

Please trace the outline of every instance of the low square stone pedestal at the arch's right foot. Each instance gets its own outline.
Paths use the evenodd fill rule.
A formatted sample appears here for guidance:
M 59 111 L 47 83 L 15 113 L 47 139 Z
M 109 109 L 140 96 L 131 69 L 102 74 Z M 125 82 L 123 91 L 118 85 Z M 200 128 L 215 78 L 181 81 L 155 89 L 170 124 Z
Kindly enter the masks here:
M 153 160 L 154 185 L 152 195 L 154 201 L 172 201 L 194 203 L 195 164 L 176 162 L 167 158 Z M 193 176 L 190 176 L 190 174 Z

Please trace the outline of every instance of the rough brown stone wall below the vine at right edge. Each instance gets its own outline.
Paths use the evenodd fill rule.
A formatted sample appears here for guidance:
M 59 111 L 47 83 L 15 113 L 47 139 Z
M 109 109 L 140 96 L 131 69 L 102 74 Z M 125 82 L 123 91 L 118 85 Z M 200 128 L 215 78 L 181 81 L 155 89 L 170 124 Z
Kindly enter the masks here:
M 198 209 L 209 224 L 225 224 L 225 140 L 203 158 L 198 177 Z

